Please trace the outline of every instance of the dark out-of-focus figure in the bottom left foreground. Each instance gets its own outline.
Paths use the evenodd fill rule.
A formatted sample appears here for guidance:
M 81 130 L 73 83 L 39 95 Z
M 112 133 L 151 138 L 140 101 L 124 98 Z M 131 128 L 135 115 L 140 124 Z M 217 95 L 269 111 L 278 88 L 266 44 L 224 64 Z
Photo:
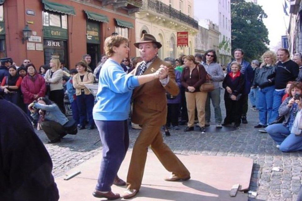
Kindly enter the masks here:
M 0 200 L 59 200 L 51 158 L 26 114 L 2 98 L 0 114 Z

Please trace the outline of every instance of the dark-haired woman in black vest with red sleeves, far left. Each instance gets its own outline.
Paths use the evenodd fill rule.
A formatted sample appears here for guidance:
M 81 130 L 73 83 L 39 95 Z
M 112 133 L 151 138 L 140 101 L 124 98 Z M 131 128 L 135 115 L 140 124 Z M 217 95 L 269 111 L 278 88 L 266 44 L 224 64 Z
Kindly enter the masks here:
M 1 82 L 1 89 L 4 91 L 4 99 L 20 107 L 20 85 L 22 78 L 17 73 L 15 66 L 8 67 L 9 75 L 4 77 Z

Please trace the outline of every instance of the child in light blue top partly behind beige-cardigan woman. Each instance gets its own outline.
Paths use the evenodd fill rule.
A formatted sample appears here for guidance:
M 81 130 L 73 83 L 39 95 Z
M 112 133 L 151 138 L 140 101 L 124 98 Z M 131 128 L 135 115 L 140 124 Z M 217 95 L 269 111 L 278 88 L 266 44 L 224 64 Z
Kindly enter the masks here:
M 70 70 L 70 79 L 66 82 L 66 91 L 68 92 L 68 98 L 72 110 L 72 118 L 76 121 L 76 124 L 80 123 L 79 110 L 76 103 L 76 89 L 72 85 L 72 77 L 78 73 L 76 69 Z

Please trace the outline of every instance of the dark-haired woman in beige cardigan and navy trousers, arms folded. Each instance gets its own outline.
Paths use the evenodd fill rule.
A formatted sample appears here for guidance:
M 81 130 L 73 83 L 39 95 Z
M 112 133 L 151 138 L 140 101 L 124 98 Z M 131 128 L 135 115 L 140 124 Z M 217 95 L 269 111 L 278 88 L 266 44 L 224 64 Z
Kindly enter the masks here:
M 94 96 L 84 85 L 92 84 L 94 76 L 92 73 L 87 72 L 87 68 L 86 62 L 76 63 L 78 73 L 72 78 L 73 87 L 76 89 L 76 102 L 80 113 L 80 130 L 85 128 L 86 117 L 88 117 L 88 129 L 94 128 L 92 117 Z

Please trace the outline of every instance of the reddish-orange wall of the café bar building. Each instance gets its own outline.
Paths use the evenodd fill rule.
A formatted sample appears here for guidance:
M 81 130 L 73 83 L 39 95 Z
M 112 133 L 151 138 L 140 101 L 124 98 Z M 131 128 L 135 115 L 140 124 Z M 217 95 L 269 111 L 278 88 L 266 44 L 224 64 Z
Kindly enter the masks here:
M 121 16 L 120 13 L 127 14 L 124 9 L 119 9 L 114 13 L 93 8 L 82 3 L 72 1 L 50 0 L 51 2 L 63 3 L 73 6 L 76 15 L 68 15 L 68 59 L 70 68 L 74 68 L 76 62 L 81 60 L 82 56 L 86 54 L 86 14 L 83 10 L 107 15 L 109 23 L 100 23 L 101 30 L 101 45 L 100 52 L 103 53 L 103 41 L 106 37 L 115 32 L 115 18 L 126 20 L 135 25 L 135 20 L 129 17 Z M 92 1 L 94 5 L 101 6 L 98 0 Z M 113 11 L 112 6 L 108 5 L 106 8 Z M 26 15 L 26 9 L 35 10 L 36 15 Z M 17 65 L 21 65 L 25 58 L 31 59 L 36 68 L 44 64 L 44 52 L 26 50 L 26 43 L 22 44 L 22 30 L 25 27 L 26 21 L 33 21 L 34 24 L 29 24 L 31 30 L 37 32 L 37 36 L 42 37 L 43 43 L 43 26 L 42 26 L 42 10 L 43 4 L 41 0 L 9 0 L 4 3 L 4 21 L 6 29 L 6 53 L 7 57 L 12 57 Z M 134 16 L 134 14 L 132 14 Z M 135 56 L 135 29 L 129 29 L 130 41 L 130 57 Z

